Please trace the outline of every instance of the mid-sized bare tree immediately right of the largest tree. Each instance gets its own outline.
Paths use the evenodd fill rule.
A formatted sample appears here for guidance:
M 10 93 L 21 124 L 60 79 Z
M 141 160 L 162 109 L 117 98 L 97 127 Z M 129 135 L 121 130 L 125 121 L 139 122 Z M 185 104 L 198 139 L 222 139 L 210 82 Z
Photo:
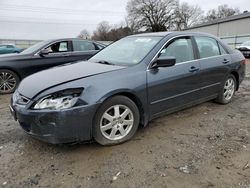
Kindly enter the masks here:
M 192 6 L 186 2 L 179 4 L 175 12 L 175 29 L 182 30 L 199 24 L 203 20 L 204 12 L 199 6 Z

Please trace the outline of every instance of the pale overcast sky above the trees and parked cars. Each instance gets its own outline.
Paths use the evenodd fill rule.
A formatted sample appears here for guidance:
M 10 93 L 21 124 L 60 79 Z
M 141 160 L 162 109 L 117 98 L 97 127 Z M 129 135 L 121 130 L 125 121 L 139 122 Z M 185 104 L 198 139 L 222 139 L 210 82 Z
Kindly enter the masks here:
M 183 0 L 181 0 L 183 1 Z M 228 4 L 250 11 L 249 0 L 184 0 L 204 11 Z M 76 37 L 99 22 L 120 24 L 128 0 L 0 0 L 0 39 Z

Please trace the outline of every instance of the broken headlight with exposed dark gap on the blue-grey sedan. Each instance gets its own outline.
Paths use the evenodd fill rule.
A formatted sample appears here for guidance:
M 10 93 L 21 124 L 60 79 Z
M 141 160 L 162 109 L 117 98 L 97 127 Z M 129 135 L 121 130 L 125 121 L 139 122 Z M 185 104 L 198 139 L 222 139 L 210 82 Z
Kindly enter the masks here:
M 33 109 L 62 110 L 73 107 L 82 92 L 81 89 L 64 90 L 40 99 Z

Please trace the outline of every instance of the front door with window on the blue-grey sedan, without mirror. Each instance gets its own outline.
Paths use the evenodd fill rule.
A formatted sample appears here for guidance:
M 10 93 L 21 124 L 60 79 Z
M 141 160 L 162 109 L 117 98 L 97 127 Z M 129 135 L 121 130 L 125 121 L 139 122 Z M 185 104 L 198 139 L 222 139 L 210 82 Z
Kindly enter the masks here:
M 192 104 L 200 97 L 200 64 L 192 37 L 172 39 L 158 54 L 174 56 L 176 65 L 147 71 L 150 114 L 155 117 Z

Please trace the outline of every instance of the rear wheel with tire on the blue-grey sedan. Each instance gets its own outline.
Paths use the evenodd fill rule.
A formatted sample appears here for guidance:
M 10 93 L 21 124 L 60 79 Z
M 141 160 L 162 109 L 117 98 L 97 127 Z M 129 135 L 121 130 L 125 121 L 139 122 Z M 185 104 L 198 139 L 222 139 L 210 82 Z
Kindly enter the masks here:
M 228 104 L 232 101 L 237 87 L 237 82 L 234 75 L 230 74 L 221 86 L 219 96 L 215 100 L 220 104 Z M 226 94 L 227 91 L 227 94 Z

